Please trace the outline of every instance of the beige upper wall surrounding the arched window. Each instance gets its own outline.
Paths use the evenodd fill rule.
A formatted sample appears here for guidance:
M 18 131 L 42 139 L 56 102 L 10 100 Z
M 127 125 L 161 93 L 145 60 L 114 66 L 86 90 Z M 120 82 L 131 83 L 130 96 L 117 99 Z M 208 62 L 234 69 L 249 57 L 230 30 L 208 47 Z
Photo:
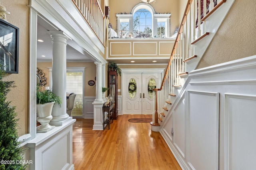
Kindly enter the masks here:
M 176 27 L 180 26 L 179 22 L 179 12 L 178 12 L 178 1 L 179 0 L 156 0 L 155 3 L 150 3 L 154 8 L 155 12 L 165 13 L 170 12 L 171 15 L 171 33 L 175 31 Z M 132 8 L 139 4 L 140 0 L 110 0 L 110 20 L 112 28 L 117 31 L 116 27 L 116 13 L 120 14 L 124 12 L 130 14 Z

